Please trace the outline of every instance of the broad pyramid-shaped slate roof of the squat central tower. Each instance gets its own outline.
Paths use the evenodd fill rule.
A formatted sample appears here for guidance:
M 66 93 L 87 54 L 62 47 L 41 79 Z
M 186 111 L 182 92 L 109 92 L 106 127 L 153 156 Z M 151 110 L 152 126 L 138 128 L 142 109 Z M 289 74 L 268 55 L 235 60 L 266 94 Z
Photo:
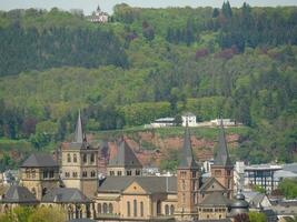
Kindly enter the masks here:
M 116 157 L 109 160 L 109 167 L 130 167 L 142 168 L 141 163 L 135 155 L 133 151 L 129 148 L 125 139 L 118 143 L 118 151 Z

